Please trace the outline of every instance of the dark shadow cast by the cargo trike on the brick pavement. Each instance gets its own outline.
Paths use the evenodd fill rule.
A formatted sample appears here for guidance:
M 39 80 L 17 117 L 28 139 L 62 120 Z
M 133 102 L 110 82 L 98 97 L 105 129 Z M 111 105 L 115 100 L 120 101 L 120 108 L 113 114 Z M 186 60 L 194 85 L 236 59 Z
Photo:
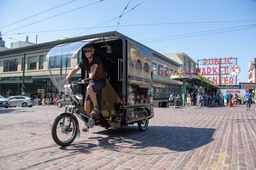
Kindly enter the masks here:
M 152 147 L 162 147 L 170 150 L 161 152 L 163 154 L 172 151 L 189 151 L 210 143 L 214 140 L 212 138 L 214 131 L 213 128 L 150 126 L 146 131 L 141 132 L 137 126 L 129 126 L 94 132 L 94 134 L 107 135 L 107 137 L 89 137 L 88 142 L 76 143 L 74 141 L 71 144 L 72 148 L 67 148 L 67 146 L 60 148 L 90 152 L 91 149 L 102 147 L 118 152 L 136 152 L 133 154 L 151 154 L 147 150 Z M 98 140 L 99 144 L 89 142 L 93 139 Z M 145 153 L 139 153 L 137 149 L 142 149 Z

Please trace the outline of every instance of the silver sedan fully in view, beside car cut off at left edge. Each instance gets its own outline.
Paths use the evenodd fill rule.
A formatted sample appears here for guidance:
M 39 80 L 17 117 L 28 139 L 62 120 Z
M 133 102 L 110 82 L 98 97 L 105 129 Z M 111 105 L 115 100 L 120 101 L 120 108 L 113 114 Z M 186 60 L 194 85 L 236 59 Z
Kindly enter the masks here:
M 31 97 L 25 96 L 11 96 L 8 98 L 10 101 L 10 107 L 22 106 L 22 107 L 32 107 L 36 105 L 36 100 Z

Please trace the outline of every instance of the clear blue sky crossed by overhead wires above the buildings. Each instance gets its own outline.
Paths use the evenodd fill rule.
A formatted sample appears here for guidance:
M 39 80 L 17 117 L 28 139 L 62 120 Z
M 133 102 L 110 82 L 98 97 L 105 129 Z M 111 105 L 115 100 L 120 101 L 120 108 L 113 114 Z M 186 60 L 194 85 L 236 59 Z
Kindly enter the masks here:
M 0 0 L 0 6 L 7 47 L 26 36 L 44 43 L 118 31 L 159 53 L 183 52 L 195 62 L 237 58 L 237 82 L 246 83 L 249 61 L 256 58 L 256 0 Z

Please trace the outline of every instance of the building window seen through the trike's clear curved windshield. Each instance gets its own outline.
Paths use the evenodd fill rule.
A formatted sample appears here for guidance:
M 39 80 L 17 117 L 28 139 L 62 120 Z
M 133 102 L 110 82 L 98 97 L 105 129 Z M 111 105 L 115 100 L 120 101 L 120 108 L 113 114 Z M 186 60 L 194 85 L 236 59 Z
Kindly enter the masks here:
M 70 56 L 52 56 L 50 58 L 50 68 L 60 68 L 62 63 L 62 68 L 70 67 L 71 63 L 69 62 Z

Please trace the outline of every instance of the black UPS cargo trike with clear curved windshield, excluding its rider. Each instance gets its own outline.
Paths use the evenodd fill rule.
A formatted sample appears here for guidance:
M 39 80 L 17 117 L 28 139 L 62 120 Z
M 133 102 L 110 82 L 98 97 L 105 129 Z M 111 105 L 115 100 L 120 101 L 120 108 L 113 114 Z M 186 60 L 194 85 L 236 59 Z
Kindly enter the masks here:
M 87 84 L 81 83 L 88 73 L 81 69 L 81 76 L 66 80 L 76 63 L 85 58 L 81 49 L 86 45 L 95 48 L 94 55 L 100 57 L 107 77 L 105 87 L 96 93 L 101 114 L 92 117 L 84 111 Z M 152 59 L 149 49 L 124 37 L 96 38 L 53 47 L 46 57 L 51 80 L 70 98 L 70 105 L 53 122 L 53 140 L 65 146 L 79 138 L 77 118 L 89 128 L 121 128 L 137 123 L 139 129 L 145 131 L 149 119 L 154 117 L 150 95 Z

